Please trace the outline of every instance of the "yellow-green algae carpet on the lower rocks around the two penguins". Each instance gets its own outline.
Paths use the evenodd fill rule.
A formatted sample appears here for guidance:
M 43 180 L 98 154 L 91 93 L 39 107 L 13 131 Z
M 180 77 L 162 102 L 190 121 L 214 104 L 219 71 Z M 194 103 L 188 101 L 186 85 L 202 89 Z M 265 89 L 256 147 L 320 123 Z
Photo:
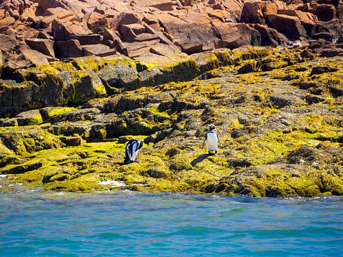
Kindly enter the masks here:
M 314 55 L 307 60 L 294 49 L 270 48 L 227 51 L 224 58 L 230 62 L 225 67 L 219 66 L 215 52 L 200 58 L 211 60 L 213 78 L 142 87 L 88 101 L 87 108 L 102 106 L 101 117 L 14 127 L 11 133 L 1 127 L 0 147 L 6 151 L 0 173 L 7 174 L 1 180 L 75 192 L 128 189 L 255 197 L 343 194 L 342 96 L 337 93 L 342 90 L 342 58 Z M 185 60 L 185 69 L 198 71 L 195 60 Z M 74 62 L 84 65 L 82 71 L 85 67 L 97 71 L 117 60 Z M 137 65 L 126 59 L 122 62 Z M 235 73 L 248 62 L 254 64 L 252 71 Z M 262 71 L 266 62 L 270 70 Z M 57 69 L 60 64 L 54 65 Z M 314 66 L 337 70 L 310 75 Z M 120 110 L 119 101 L 130 108 Z M 51 110 L 49 117 L 69 112 L 75 109 Z M 116 119 L 117 123 L 110 123 Z M 217 156 L 202 149 L 210 123 L 217 125 L 220 135 Z M 80 144 L 69 146 L 61 136 L 79 135 L 49 133 L 53 125 L 77 124 L 98 126 L 102 138 L 87 143 L 90 133 L 85 132 L 80 134 Z M 140 138 L 145 144 L 139 162 L 123 165 L 130 138 Z

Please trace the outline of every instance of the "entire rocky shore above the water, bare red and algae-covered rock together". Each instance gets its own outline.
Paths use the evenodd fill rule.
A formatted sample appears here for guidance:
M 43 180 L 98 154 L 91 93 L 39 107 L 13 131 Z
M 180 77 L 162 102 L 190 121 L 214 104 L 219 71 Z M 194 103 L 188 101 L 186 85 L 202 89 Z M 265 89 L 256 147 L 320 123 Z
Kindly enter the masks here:
M 341 3 L 101 2 L 1 3 L 0 191 L 343 194 Z

